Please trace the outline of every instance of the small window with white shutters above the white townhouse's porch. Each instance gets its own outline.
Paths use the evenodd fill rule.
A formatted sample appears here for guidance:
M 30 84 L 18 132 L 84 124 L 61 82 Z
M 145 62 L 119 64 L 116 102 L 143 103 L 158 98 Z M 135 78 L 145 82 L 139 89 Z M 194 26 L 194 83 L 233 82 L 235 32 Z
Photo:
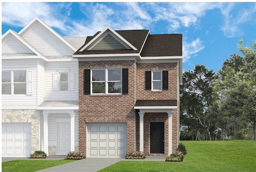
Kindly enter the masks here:
M 54 91 L 74 91 L 75 73 L 60 72 L 52 74 L 52 90 Z

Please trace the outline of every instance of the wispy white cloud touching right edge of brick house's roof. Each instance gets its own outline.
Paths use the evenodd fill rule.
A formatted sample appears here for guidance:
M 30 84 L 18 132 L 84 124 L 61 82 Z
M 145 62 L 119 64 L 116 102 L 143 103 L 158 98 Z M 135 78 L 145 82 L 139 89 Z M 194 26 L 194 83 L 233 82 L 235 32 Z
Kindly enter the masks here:
M 197 56 L 196 53 L 200 52 L 204 49 L 204 45 L 202 44 L 202 41 L 200 38 L 196 38 L 196 40 L 193 40 L 191 42 L 183 41 L 182 45 L 182 56 L 183 56 L 183 62 L 186 62 L 191 56 Z

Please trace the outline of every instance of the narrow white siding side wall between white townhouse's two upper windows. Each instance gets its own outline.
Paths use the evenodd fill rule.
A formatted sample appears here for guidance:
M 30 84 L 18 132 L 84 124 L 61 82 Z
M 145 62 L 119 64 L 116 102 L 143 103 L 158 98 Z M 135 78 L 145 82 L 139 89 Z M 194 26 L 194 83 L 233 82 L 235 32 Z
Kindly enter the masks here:
M 39 105 L 44 102 L 44 94 L 45 94 L 45 85 L 44 85 L 44 80 L 45 80 L 45 74 L 44 74 L 44 64 L 41 62 L 39 63 Z

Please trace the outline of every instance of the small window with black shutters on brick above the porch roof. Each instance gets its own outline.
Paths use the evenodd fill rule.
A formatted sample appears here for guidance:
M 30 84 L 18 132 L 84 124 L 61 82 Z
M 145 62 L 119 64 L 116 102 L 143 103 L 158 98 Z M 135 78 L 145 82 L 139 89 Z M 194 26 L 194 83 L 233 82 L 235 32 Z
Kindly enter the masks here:
M 145 76 L 146 90 L 168 90 L 168 71 L 146 71 Z

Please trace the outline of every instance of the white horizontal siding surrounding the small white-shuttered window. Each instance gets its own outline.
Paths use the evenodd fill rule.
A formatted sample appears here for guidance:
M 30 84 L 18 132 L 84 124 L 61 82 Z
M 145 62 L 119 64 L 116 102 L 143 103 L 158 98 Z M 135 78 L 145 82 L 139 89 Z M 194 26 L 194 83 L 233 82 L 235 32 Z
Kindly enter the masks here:
M 52 88 L 52 74 L 60 71 L 75 73 L 75 90 L 54 91 Z M 45 65 L 45 95 L 47 101 L 77 101 L 78 100 L 78 61 L 47 62 Z

